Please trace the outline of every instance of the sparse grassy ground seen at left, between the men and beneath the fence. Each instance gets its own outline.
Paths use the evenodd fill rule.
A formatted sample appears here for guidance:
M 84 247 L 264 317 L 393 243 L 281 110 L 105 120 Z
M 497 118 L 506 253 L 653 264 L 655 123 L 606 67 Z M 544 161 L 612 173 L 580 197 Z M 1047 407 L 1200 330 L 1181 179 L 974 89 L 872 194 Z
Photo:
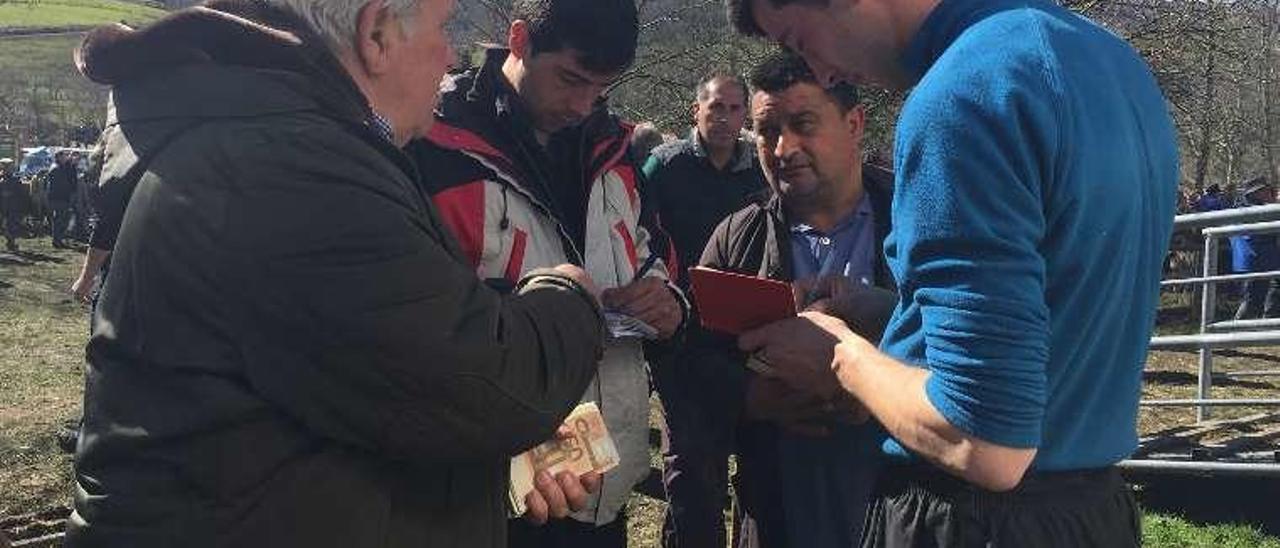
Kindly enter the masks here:
M 20 261 L 0 255 L 0 519 L 68 504 L 72 461 L 59 452 L 56 433 L 79 414 L 83 383 L 86 310 L 65 291 L 81 252 L 54 250 L 47 238 L 20 243 Z M 1148 383 L 1149 397 L 1194 391 L 1193 380 L 1183 382 L 1193 371 L 1193 355 L 1160 353 L 1152 360 L 1153 370 L 1167 373 L 1157 375 L 1161 382 Z M 1235 356 L 1222 365 L 1256 366 L 1256 356 Z M 1233 396 L 1238 389 L 1263 388 L 1222 387 Z M 655 423 L 658 414 L 655 406 Z M 1161 428 L 1189 419 L 1189 411 L 1172 414 L 1144 414 L 1143 425 Z M 650 457 L 653 466 L 660 466 L 657 449 Z M 658 545 L 664 506 L 660 499 L 632 497 L 632 547 Z M 1280 548 L 1280 539 L 1247 525 L 1196 524 L 1169 513 L 1147 515 L 1143 531 L 1151 547 Z

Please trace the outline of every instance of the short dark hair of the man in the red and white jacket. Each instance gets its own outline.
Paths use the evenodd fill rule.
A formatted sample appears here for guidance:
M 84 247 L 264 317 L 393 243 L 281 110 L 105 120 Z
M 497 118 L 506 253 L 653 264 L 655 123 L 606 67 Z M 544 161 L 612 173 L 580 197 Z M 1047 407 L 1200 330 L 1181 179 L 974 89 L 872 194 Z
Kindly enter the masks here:
M 571 49 L 582 68 L 600 74 L 636 59 L 635 0 L 516 0 L 511 15 L 529 24 L 532 55 Z

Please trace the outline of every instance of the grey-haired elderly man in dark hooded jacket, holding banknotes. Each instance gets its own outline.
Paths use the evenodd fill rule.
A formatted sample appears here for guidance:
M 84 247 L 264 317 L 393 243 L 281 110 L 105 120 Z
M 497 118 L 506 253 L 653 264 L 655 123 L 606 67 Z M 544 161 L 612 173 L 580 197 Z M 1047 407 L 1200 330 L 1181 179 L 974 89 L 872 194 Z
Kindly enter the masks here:
M 100 184 L 133 189 L 68 545 L 506 544 L 508 460 L 577 403 L 603 319 L 573 266 L 489 289 L 398 149 L 451 6 L 214 1 L 88 35 Z M 531 511 L 585 502 L 556 480 Z

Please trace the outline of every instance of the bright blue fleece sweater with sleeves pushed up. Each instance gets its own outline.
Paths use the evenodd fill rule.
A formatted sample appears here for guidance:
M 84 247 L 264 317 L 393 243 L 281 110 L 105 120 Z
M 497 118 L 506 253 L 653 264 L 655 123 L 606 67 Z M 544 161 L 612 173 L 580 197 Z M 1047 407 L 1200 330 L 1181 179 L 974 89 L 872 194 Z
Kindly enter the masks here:
M 1151 70 L 1034 0 L 943 0 L 904 61 L 882 348 L 960 430 L 1039 448 L 1033 470 L 1124 458 L 1178 188 Z

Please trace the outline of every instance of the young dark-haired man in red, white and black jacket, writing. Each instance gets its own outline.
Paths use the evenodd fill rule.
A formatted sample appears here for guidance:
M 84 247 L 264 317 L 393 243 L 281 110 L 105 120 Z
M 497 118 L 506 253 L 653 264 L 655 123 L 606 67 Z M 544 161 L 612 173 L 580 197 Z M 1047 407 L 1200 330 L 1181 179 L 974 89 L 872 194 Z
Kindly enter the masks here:
M 675 255 L 650 260 L 650 248 L 669 245 L 652 242 L 666 238 L 641 207 L 631 127 L 602 99 L 635 59 L 636 32 L 631 0 L 516 3 L 508 49 L 445 78 L 436 123 L 408 152 L 480 278 L 503 287 L 531 269 L 577 264 L 604 289 L 607 310 L 668 339 L 689 305 L 668 280 Z M 603 411 L 620 466 L 572 520 L 512 522 L 511 545 L 626 545 L 623 507 L 649 470 L 643 343 L 612 338 L 582 396 Z

